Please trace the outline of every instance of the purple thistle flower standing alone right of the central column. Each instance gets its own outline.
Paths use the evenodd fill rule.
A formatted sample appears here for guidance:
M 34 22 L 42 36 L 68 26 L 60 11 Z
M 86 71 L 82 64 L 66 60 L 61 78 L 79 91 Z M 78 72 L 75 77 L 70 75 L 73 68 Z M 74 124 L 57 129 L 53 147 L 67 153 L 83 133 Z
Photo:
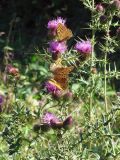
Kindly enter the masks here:
M 89 40 L 79 41 L 75 45 L 75 49 L 82 54 L 90 54 L 92 52 L 92 45 Z

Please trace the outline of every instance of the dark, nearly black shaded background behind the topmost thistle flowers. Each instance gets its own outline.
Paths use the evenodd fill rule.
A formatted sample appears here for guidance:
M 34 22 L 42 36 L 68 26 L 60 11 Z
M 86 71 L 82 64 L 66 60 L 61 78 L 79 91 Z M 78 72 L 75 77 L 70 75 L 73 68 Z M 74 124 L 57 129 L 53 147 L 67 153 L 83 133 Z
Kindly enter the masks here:
M 100 1 L 95 2 L 97 4 Z M 67 19 L 67 25 L 74 33 L 74 38 L 69 41 L 70 46 L 75 43 L 77 36 L 83 39 L 91 37 L 91 31 L 85 29 L 91 14 L 79 0 L 0 0 L 0 32 L 5 32 L 0 37 L 1 55 L 8 35 L 8 45 L 14 48 L 19 59 L 34 52 L 36 47 L 45 48 L 48 42 L 47 23 L 58 16 Z M 114 35 L 114 29 L 112 32 Z M 101 33 L 97 33 L 99 37 Z M 120 69 L 119 50 L 110 55 L 109 59 L 115 61 Z M 120 90 L 119 81 L 115 81 L 117 90 Z

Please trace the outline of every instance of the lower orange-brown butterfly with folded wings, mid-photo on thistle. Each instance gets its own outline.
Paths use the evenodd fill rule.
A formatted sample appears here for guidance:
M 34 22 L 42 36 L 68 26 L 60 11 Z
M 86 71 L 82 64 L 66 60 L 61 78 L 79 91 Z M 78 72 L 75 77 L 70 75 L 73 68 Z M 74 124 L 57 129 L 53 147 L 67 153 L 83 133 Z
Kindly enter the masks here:
M 62 90 L 66 90 L 68 86 L 68 75 L 73 70 L 73 66 L 71 67 L 58 67 L 53 71 L 54 80 L 56 84 L 58 84 Z

